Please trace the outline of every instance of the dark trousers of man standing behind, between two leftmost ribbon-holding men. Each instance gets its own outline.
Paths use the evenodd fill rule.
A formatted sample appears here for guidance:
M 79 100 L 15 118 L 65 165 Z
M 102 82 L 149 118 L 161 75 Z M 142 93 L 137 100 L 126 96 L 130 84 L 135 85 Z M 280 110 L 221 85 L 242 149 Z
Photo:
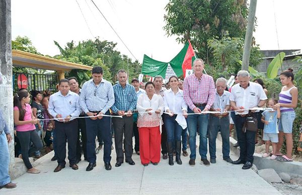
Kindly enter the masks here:
M 82 147 L 80 145 L 80 132 L 82 135 Z M 85 118 L 78 119 L 77 159 L 80 159 L 82 157 L 82 149 L 84 158 L 87 159 L 87 133 Z

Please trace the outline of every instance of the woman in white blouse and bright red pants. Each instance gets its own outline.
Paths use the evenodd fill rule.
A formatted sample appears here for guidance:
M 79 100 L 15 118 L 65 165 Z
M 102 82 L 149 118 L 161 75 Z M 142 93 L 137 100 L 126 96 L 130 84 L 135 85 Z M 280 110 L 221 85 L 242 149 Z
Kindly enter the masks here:
M 138 97 L 137 127 L 139 133 L 139 152 L 141 164 L 147 166 L 150 162 L 157 165 L 161 159 L 161 130 L 164 100 L 155 94 L 153 82 L 145 84 L 146 94 Z M 144 113 L 150 112 L 150 113 Z

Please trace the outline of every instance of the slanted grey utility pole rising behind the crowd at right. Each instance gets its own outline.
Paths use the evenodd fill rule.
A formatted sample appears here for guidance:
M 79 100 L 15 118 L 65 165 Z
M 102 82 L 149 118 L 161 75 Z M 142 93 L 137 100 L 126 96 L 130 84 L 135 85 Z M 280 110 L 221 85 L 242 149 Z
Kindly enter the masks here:
M 241 65 L 242 70 L 249 70 L 252 38 L 253 38 L 255 15 L 256 15 L 256 6 L 257 6 L 257 0 L 251 0 L 250 8 L 249 8 L 247 32 L 244 39 L 243 57 L 242 57 L 242 65 Z

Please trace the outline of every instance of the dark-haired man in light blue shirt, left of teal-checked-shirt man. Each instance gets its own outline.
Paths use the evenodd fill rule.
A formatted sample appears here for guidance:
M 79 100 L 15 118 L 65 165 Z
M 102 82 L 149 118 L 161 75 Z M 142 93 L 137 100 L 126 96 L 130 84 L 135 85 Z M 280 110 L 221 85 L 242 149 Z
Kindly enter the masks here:
M 87 158 L 89 165 L 86 171 L 91 171 L 97 164 L 95 152 L 96 136 L 100 131 L 104 140 L 104 162 L 105 169 L 111 170 L 111 120 L 110 117 L 94 117 L 98 114 L 110 115 L 109 109 L 114 104 L 113 88 L 109 81 L 103 78 L 103 68 L 95 66 L 92 69 L 92 79 L 85 82 L 81 89 L 80 105 L 87 116 Z

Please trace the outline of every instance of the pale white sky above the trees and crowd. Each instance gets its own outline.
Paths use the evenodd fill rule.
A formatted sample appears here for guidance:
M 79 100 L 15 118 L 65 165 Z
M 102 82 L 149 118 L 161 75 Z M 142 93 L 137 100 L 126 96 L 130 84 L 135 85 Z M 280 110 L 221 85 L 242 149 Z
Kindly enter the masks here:
M 94 0 L 134 57 L 90 0 L 11 1 L 12 39 L 27 36 L 44 55 L 59 54 L 53 41 L 64 47 L 94 37 L 116 42 L 118 51 L 139 62 L 143 54 L 168 62 L 183 47 L 163 30 L 169 0 Z M 301 7 L 299 0 L 258 0 L 254 37 L 262 50 L 302 49 Z

